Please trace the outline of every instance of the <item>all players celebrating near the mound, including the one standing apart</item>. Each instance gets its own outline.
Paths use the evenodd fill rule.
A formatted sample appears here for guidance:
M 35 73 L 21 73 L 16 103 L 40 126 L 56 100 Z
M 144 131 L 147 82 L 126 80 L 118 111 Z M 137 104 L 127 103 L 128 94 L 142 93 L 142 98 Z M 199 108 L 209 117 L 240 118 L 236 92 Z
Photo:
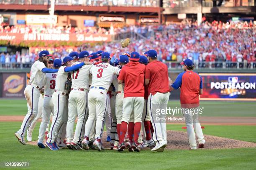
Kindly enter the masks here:
M 31 77 L 24 91 L 28 112 L 15 133 L 20 143 L 26 145 L 26 133 L 27 140 L 32 140 L 36 121 L 42 117 L 39 148 L 101 151 L 105 149 L 102 134 L 106 126 L 106 140 L 112 150 L 122 152 L 128 148 L 130 152 L 139 152 L 149 147 L 152 151 L 163 152 L 167 146 L 166 123 L 156 122 L 153 108 L 155 105 L 167 107 L 170 90 L 179 87 L 181 103 L 191 103 L 191 95 L 182 98 L 183 91 L 196 90 L 192 106 L 198 107 L 197 97 L 202 93 L 200 76 L 189 69 L 193 63 L 187 59 L 182 64 L 188 74 L 181 73 L 172 84 L 168 68 L 157 60 L 155 50 L 144 55 L 125 52 L 112 64 L 113 55 L 114 52 L 101 50 L 92 54 L 72 52 L 62 62 L 50 59 L 52 55 L 48 51 L 41 51 L 31 67 Z M 191 77 L 197 80 L 195 87 L 184 87 Z M 197 148 L 195 133 L 198 148 L 203 148 L 205 140 L 198 115 L 184 114 L 184 117 L 191 149 Z

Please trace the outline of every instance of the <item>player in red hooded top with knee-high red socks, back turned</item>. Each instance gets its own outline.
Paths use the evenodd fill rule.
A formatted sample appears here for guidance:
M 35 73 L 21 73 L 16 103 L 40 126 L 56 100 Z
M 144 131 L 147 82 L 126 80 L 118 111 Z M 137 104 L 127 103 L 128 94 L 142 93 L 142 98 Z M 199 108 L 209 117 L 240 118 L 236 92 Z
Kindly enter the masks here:
M 125 149 L 123 142 L 132 112 L 134 128 L 132 127 L 131 130 L 128 130 L 130 141 L 126 143 L 126 147 L 129 151 L 131 149 L 136 152 L 140 151 L 138 148 L 138 136 L 141 131 L 141 117 L 144 106 L 144 72 L 146 66 L 140 64 L 138 60 L 138 52 L 132 52 L 130 62 L 122 68 L 118 76 L 118 84 L 125 83 L 118 151 Z M 134 136 L 134 141 L 131 141 L 132 136 Z

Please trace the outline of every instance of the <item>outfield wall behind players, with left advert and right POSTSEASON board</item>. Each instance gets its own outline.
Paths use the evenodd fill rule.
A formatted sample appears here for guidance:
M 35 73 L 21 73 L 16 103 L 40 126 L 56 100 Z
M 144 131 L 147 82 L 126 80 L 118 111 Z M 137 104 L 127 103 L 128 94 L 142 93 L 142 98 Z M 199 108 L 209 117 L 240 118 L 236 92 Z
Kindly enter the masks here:
M 169 70 L 174 80 L 182 70 Z M 255 70 L 196 70 L 203 80 L 200 100 L 256 101 Z M 225 73 L 224 73 L 225 72 Z M 243 72 L 243 73 L 241 73 Z M 0 97 L 24 98 L 29 70 L 0 70 Z M 171 92 L 170 100 L 179 100 L 180 90 Z

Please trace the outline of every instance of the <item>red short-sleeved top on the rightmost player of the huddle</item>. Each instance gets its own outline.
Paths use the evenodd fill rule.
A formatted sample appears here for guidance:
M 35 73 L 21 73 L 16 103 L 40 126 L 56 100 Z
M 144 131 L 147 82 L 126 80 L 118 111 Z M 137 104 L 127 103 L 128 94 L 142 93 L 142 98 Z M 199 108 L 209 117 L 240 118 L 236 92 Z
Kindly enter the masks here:
M 149 79 L 148 93 L 166 93 L 170 91 L 168 68 L 161 61 L 153 61 L 146 66 L 145 79 Z

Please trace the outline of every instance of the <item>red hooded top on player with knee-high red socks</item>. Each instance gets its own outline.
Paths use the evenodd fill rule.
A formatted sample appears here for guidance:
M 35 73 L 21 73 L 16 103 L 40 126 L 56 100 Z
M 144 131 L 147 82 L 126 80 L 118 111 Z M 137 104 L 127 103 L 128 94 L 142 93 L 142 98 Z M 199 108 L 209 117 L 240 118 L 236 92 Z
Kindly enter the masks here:
M 133 61 L 123 66 L 118 80 L 123 80 L 125 83 L 124 97 L 144 97 L 145 69 L 145 65 Z

